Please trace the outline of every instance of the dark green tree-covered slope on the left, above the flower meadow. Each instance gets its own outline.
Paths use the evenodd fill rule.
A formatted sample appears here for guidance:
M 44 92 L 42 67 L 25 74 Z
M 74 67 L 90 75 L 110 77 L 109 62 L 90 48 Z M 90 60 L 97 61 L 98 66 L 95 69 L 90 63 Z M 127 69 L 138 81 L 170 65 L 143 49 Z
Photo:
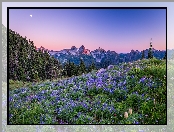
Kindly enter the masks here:
M 85 67 L 83 60 L 80 65 L 68 61 L 64 66 L 51 56 L 47 49 L 34 46 L 33 41 L 23 38 L 9 29 L 9 79 L 20 81 L 40 81 L 71 77 L 87 73 L 95 69 L 92 63 Z

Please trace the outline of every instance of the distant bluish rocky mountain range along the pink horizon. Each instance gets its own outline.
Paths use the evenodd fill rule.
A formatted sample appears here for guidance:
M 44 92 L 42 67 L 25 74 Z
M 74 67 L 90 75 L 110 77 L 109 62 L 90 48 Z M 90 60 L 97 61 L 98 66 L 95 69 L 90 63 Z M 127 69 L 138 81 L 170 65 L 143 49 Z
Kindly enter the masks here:
M 148 57 L 148 50 L 144 50 L 145 58 Z M 153 56 L 157 59 L 163 59 L 165 56 L 164 50 L 156 50 L 153 48 Z M 49 54 L 58 59 L 62 64 L 67 61 L 74 62 L 76 65 L 80 64 L 80 59 L 82 59 L 85 65 L 88 67 L 92 62 L 100 67 L 107 67 L 108 65 L 116 65 L 122 62 L 132 62 L 142 57 L 142 51 L 131 50 L 130 53 L 116 53 L 115 51 L 105 51 L 102 48 L 98 48 L 94 51 L 86 49 L 84 45 L 79 48 L 72 46 L 70 49 L 63 49 L 61 51 L 49 50 Z

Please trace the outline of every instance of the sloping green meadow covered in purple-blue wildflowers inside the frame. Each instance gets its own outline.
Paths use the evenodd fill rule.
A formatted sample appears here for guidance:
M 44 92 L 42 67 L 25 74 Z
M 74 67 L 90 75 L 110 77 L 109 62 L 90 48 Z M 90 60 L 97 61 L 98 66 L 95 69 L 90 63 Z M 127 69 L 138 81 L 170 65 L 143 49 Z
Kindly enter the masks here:
M 166 60 L 143 59 L 25 84 L 10 80 L 10 124 L 167 123 Z

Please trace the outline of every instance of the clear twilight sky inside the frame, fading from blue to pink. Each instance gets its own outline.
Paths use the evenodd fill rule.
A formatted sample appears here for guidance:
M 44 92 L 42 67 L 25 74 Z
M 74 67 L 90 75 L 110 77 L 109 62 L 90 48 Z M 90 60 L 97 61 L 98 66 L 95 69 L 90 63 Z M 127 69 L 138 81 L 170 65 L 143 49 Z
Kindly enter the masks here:
M 151 38 L 155 49 L 166 49 L 164 9 L 10 9 L 9 27 L 38 48 L 55 51 L 81 45 L 117 53 L 142 51 Z

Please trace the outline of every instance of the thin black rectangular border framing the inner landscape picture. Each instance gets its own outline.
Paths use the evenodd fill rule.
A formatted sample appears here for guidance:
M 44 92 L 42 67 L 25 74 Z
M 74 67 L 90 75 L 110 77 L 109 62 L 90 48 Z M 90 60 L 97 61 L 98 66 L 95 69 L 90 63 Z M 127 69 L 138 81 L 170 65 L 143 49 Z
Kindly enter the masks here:
M 165 9 L 166 10 L 166 100 L 167 100 L 167 7 L 7 7 L 7 125 L 108 125 L 108 124 L 9 124 L 9 10 L 10 9 Z M 135 124 L 109 124 L 109 125 L 135 125 Z M 137 124 L 155 125 L 155 124 Z M 167 125 L 167 102 L 166 124 Z

